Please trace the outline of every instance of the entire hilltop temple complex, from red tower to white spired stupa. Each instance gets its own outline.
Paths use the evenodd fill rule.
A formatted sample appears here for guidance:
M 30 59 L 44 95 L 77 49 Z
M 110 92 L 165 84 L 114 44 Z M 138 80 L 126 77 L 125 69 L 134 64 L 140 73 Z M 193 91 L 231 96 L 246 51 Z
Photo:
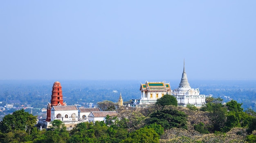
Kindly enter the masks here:
M 146 81 L 144 84 L 141 83 L 139 90 L 141 91 L 141 98 L 132 100 L 129 104 L 130 107 L 155 104 L 157 99 L 162 98 L 166 94 L 173 95 L 180 106 L 191 104 L 200 107 L 205 104 L 205 95 L 200 95 L 199 89 L 193 89 L 189 85 L 185 72 L 185 62 L 180 86 L 177 89 L 171 90 L 170 83 L 166 81 Z M 62 121 L 67 129 L 72 129 L 81 122 L 105 121 L 106 115 L 117 115 L 117 111 L 100 111 L 99 108 L 78 108 L 75 105 L 67 105 L 66 102 L 63 102 L 62 87 L 58 81 L 54 82 L 51 97 L 51 103 L 48 102 L 47 104 L 47 118 L 39 119 L 38 121 L 37 127 L 40 129 L 49 128 L 51 122 L 55 119 Z M 117 104 L 118 107 L 124 106 L 121 93 Z

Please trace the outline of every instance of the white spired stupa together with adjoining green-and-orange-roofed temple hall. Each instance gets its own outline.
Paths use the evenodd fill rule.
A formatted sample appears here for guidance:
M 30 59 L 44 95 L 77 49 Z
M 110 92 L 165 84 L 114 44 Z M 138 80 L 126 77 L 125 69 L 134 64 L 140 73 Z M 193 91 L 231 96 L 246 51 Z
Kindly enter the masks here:
M 154 104 L 157 99 L 165 94 L 173 95 L 177 99 L 180 106 L 188 104 L 200 107 L 205 104 L 205 95 L 200 95 L 199 89 L 193 89 L 189 85 L 188 78 L 185 72 L 185 62 L 183 67 L 180 86 L 177 89 L 171 90 L 170 83 L 163 82 L 148 82 L 140 85 L 141 98 L 132 100 L 131 107 L 146 106 Z

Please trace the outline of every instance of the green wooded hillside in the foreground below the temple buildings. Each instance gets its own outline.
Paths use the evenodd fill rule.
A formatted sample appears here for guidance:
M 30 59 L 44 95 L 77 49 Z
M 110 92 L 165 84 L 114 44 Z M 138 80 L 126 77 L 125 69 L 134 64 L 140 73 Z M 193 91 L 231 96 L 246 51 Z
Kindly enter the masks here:
M 110 101 L 108 101 L 110 102 Z M 100 102 L 101 105 L 103 102 Z M 115 104 L 113 102 L 113 104 Z M 112 106 L 112 104 L 108 104 Z M 207 98 L 202 108 L 177 106 L 164 95 L 144 108 L 104 108 L 117 110 L 116 117 L 94 124 L 84 122 L 66 130 L 59 120 L 49 130 L 37 130 L 36 117 L 23 109 L 0 122 L 1 143 L 254 143 L 256 112 L 243 110 L 231 100 Z

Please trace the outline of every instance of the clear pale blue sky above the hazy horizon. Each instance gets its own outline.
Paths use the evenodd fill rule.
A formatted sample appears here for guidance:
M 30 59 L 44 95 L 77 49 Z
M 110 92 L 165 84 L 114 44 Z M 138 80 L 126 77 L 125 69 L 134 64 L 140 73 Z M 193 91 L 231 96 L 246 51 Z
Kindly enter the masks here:
M 0 80 L 256 80 L 255 0 L 2 0 Z

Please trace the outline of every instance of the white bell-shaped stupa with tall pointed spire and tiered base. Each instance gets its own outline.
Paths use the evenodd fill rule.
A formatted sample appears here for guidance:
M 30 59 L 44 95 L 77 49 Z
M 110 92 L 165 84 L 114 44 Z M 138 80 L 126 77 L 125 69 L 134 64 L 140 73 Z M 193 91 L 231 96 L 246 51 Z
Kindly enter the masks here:
M 172 91 L 172 95 L 177 99 L 178 105 L 181 106 L 192 104 L 200 107 L 205 104 L 205 95 L 200 95 L 199 89 L 193 89 L 189 85 L 185 72 L 185 62 L 180 86 Z

